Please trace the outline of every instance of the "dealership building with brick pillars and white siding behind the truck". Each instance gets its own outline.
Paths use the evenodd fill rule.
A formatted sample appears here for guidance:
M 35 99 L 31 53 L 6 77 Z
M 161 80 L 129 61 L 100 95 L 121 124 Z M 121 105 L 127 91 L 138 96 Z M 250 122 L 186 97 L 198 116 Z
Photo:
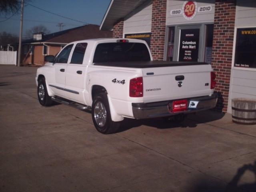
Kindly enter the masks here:
M 256 99 L 255 0 L 111 0 L 100 29 L 146 40 L 154 60 L 211 64 L 218 110 Z

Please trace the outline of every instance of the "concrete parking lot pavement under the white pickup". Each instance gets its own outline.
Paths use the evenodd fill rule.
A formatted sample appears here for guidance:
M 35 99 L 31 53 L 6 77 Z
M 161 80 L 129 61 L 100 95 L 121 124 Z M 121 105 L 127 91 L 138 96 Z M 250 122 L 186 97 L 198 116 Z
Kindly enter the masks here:
M 40 106 L 36 69 L 0 65 L 1 192 L 256 191 L 256 126 L 209 110 L 103 135 L 90 112 Z

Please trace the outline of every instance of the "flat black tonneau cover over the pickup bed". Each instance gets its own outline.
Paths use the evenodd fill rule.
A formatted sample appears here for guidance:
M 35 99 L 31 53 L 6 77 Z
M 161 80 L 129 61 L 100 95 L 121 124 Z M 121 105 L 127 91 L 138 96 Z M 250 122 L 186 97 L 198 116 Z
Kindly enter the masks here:
M 153 68 L 153 67 L 168 67 L 168 66 L 208 65 L 208 63 L 179 62 L 179 61 L 129 61 L 129 62 L 102 62 L 102 63 L 94 63 L 94 65 L 126 67 L 126 68 Z

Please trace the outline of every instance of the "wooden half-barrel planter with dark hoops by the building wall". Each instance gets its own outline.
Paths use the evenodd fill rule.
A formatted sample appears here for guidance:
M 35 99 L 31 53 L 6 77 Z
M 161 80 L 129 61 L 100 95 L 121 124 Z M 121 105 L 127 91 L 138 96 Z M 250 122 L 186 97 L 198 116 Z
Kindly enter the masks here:
M 256 124 L 256 100 L 247 98 L 232 99 L 232 120 L 238 124 Z

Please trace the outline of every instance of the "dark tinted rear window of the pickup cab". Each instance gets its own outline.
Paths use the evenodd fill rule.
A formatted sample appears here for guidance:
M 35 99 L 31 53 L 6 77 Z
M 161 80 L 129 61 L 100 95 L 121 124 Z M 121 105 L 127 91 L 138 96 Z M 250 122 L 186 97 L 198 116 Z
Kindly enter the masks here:
M 148 48 L 143 43 L 101 43 L 94 53 L 94 63 L 150 61 Z

